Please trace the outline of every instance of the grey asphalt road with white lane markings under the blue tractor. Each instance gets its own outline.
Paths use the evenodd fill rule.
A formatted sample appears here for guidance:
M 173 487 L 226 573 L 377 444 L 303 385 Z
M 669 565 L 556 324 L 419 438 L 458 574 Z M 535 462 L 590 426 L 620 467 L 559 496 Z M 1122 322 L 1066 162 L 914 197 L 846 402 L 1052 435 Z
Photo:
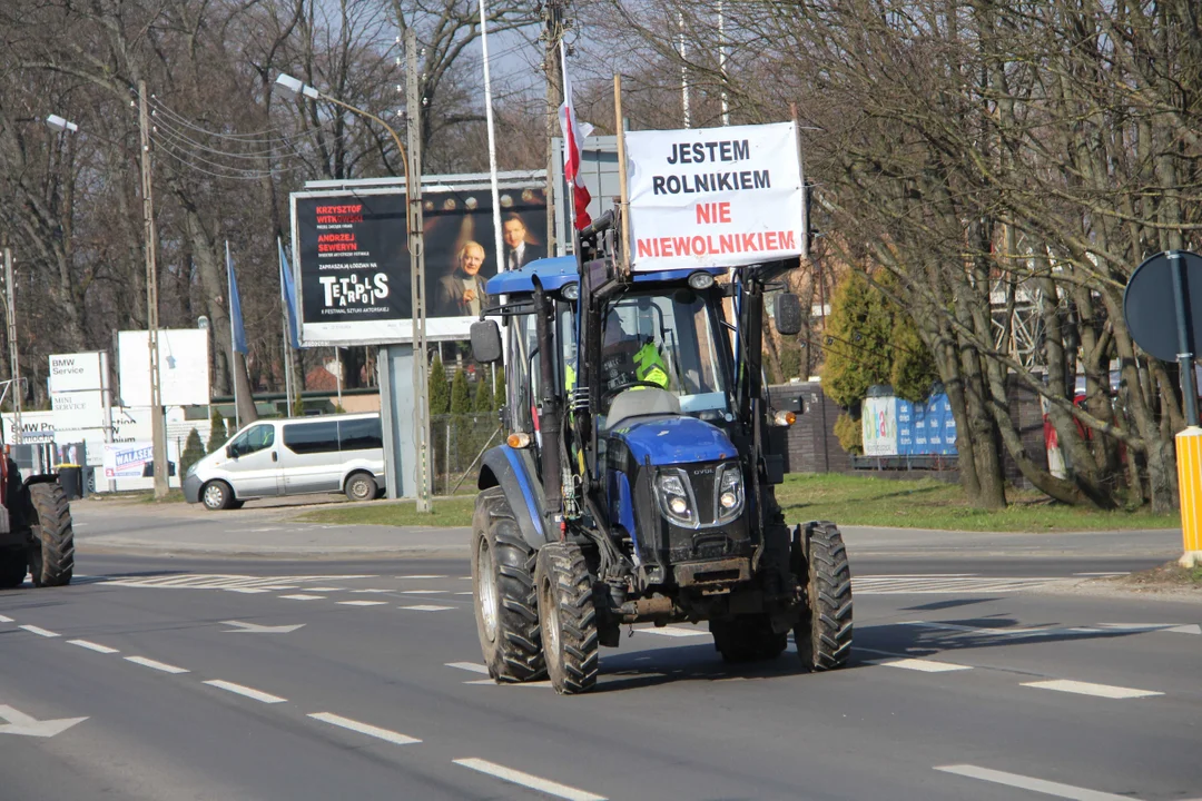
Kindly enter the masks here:
M 463 557 L 82 552 L 0 594 L 0 799 L 1202 797 L 1202 605 L 1045 592 L 1159 554 L 849 539 L 849 669 L 639 627 L 579 698 L 484 681 Z

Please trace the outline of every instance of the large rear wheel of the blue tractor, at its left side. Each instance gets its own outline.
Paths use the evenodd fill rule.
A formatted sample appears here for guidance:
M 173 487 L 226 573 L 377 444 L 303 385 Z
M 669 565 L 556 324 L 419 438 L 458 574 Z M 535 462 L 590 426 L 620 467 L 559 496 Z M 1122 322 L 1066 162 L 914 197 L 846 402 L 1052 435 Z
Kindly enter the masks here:
M 499 682 L 534 681 L 547 670 L 538 629 L 536 560 L 537 551 L 522 538 L 501 488 L 482 491 L 471 521 L 471 587 L 484 664 Z

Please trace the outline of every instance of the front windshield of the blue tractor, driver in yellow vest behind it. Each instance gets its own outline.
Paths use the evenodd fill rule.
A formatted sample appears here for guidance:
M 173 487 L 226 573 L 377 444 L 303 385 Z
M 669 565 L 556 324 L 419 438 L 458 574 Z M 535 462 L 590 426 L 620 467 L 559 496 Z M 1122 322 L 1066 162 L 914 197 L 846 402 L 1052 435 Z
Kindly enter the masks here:
M 686 414 L 727 412 L 726 337 L 718 325 L 715 310 L 692 289 L 612 301 L 601 331 L 602 406 L 625 388 L 650 385 L 677 395 Z

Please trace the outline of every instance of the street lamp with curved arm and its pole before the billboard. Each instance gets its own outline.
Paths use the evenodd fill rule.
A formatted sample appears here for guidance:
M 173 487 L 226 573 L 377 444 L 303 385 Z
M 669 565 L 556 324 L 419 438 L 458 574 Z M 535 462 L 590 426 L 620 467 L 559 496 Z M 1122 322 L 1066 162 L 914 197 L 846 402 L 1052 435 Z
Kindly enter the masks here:
M 416 61 L 413 54 L 416 54 L 417 44 L 412 31 L 406 34 L 405 49 L 410 53 L 410 58 L 407 59 L 410 68 L 406 74 L 409 83 L 407 125 L 410 141 L 407 151 L 392 126 L 375 114 L 332 97 L 290 74 L 280 73 L 275 78 L 275 85 L 298 97 L 325 100 L 352 114 L 358 114 L 379 124 L 392 136 L 392 141 L 397 145 L 397 151 L 400 153 L 401 165 L 405 171 L 405 201 L 407 208 L 405 225 L 409 233 L 410 292 L 412 294 L 411 340 L 413 348 L 413 443 L 417 456 L 417 510 L 432 512 L 429 465 L 430 407 L 428 367 L 426 364 L 426 241 L 422 231 L 422 166 L 419 153 L 421 103 L 417 98 L 417 74 L 413 66 Z

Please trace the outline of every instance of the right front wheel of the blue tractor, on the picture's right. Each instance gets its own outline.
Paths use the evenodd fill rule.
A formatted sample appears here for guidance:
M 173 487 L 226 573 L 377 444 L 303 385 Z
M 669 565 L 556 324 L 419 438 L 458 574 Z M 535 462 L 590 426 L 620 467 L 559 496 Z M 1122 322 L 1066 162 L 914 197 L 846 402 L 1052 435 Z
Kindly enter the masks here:
M 807 605 L 793 629 L 797 653 L 809 670 L 835 670 L 851 657 L 851 567 L 843 534 L 833 522 L 811 522 L 801 530 L 807 539 L 801 560 Z M 797 550 L 802 543 L 795 542 Z

